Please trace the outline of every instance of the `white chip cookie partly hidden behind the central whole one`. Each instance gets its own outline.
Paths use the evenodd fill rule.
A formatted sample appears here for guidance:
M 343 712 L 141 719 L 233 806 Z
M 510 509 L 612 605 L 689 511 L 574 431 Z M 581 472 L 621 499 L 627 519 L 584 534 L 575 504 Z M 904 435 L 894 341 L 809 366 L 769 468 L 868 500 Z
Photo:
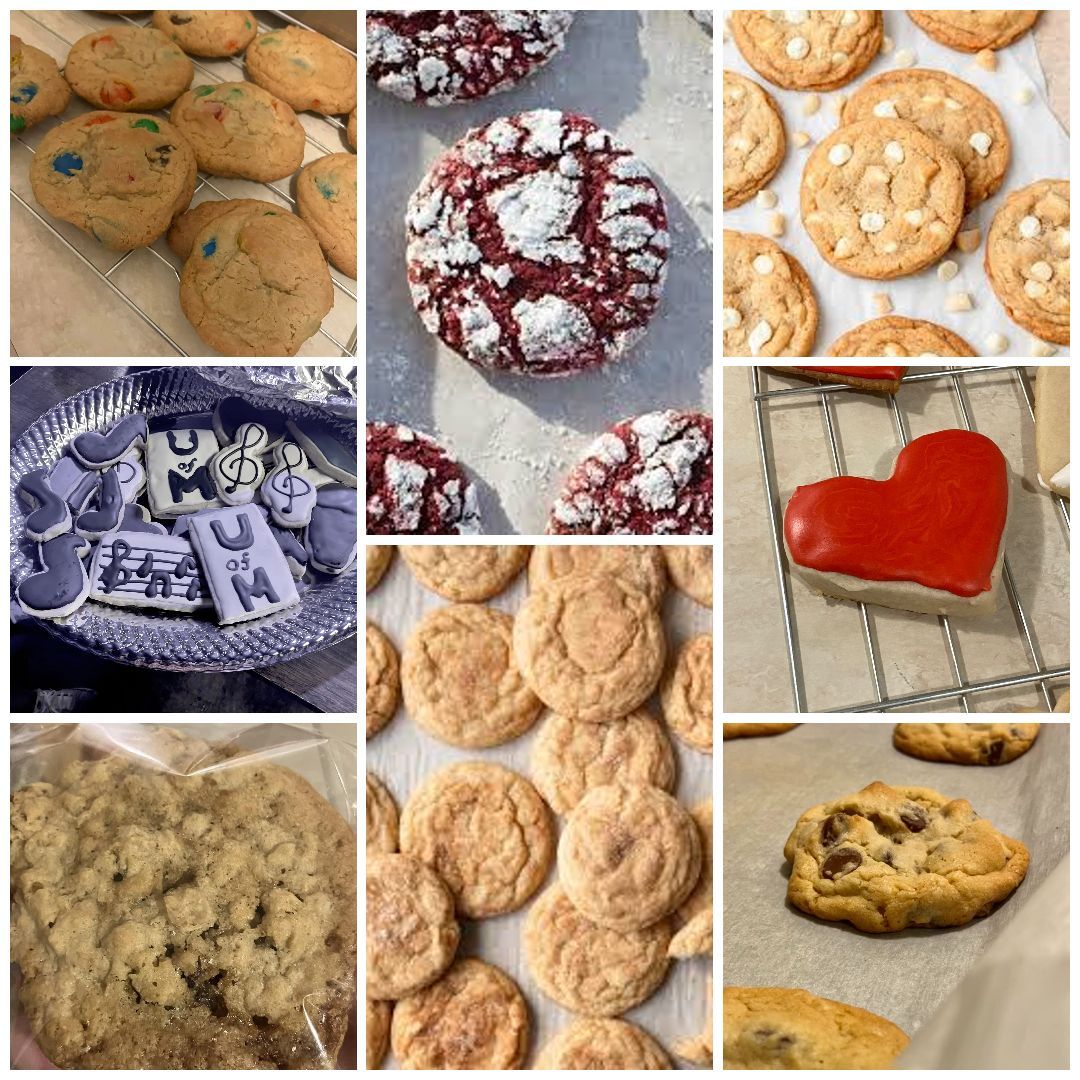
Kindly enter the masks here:
M 1009 135 L 998 107 L 944 71 L 907 68 L 876 76 L 843 103 L 841 119 L 908 120 L 943 143 L 963 170 L 964 213 L 1001 187 L 1009 167 Z

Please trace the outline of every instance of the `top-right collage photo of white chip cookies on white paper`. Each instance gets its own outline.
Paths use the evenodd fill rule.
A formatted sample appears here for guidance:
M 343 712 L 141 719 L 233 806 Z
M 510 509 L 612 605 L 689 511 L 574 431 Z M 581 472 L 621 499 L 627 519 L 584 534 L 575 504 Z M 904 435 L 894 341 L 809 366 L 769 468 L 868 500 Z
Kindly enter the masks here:
M 724 355 L 1069 354 L 1071 16 L 724 12 Z

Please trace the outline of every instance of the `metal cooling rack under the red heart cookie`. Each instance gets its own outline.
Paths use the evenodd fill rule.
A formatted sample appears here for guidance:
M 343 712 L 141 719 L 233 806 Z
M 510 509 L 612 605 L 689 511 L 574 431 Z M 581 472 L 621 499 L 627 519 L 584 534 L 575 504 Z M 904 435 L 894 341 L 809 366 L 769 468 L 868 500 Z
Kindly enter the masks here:
M 787 556 L 783 545 L 783 515 L 784 508 L 780 502 L 779 488 L 777 486 L 775 470 L 769 455 L 766 442 L 766 409 L 771 402 L 791 401 L 793 397 L 816 397 L 821 406 L 822 418 L 825 423 L 825 433 L 828 440 L 828 448 L 833 459 L 833 473 L 836 476 L 841 474 L 840 451 L 836 434 L 836 417 L 834 415 L 833 399 L 836 394 L 858 392 L 852 387 L 838 383 L 808 383 L 807 386 L 785 388 L 782 390 L 762 390 L 761 372 L 759 367 L 751 367 L 751 378 L 754 391 L 754 420 L 757 427 L 758 453 L 761 460 L 761 473 L 765 476 L 765 490 L 769 515 L 769 531 L 772 538 L 773 565 L 777 571 L 777 582 L 780 589 L 780 607 L 784 618 L 784 640 L 787 646 L 788 672 L 792 678 L 792 693 L 795 699 L 795 711 L 798 713 L 809 712 L 806 701 L 806 685 L 802 677 L 802 662 L 798 648 L 798 627 L 795 618 L 795 606 L 792 598 L 792 584 L 787 569 Z M 973 375 L 981 375 L 987 372 L 1002 373 L 1012 372 L 1013 377 L 1018 382 L 1024 400 L 1027 402 L 1027 410 L 1031 421 L 1035 421 L 1035 400 L 1031 394 L 1031 387 L 1028 380 L 1027 370 L 1021 364 L 1015 365 L 984 365 L 978 367 L 963 368 L 915 368 L 908 369 L 904 382 L 921 382 L 931 379 L 947 379 L 951 383 L 953 394 L 956 401 L 957 410 L 963 426 L 969 430 L 974 430 L 972 422 L 973 410 L 968 396 L 967 380 Z M 901 446 L 908 443 L 907 419 L 897 399 L 901 395 L 888 395 L 889 409 L 892 415 L 893 424 L 896 429 L 896 436 Z M 1070 536 L 1069 503 L 1067 499 L 1054 495 L 1053 500 L 1057 507 L 1066 540 Z M 873 687 L 874 701 L 858 702 L 851 705 L 841 705 L 826 710 L 831 713 L 875 713 L 886 712 L 893 708 L 903 708 L 912 705 L 926 705 L 937 701 L 956 699 L 960 703 L 963 712 L 971 712 L 971 699 L 980 693 L 988 693 L 991 690 L 1001 690 L 1014 686 L 1026 686 L 1038 684 L 1047 712 L 1053 712 L 1053 699 L 1050 696 L 1049 684 L 1051 680 L 1067 677 L 1069 666 L 1048 667 L 1042 662 L 1039 651 L 1035 645 L 1031 632 L 1031 623 L 1023 597 L 1016 588 L 1016 581 L 1009 565 L 1009 553 L 1005 552 L 1002 568 L 1002 580 L 1005 585 L 1005 593 L 1012 606 L 1013 617 L 1016 622 L 1016 630 L 1027 653 L 1030 671 L 1020 675 L 1002 675 L 998 678 L 982 679 L 977 681 L 967 681 L 960 667 L 960 648 L 956 635 L 949 624 L 947 616 L 939 616 L 942 631 L 945 638 L 945 649 L 949 667 L 953 672 L 954 684 L 943 686 L 934 690 L 923 690 L 918 693 L 907 693 L 900 697 L 889 697 L 885 691 L 882 680 L 882 664 L 879 656 L 878 643 L 870 622 L 868 606 L 863 603 L 858 604 L 859 616 L 862 621 L 863 640 L 866 646 L 866 663 L 869 671 L 870 684 Z M 927 617 L 930 618 L 930 617 Z

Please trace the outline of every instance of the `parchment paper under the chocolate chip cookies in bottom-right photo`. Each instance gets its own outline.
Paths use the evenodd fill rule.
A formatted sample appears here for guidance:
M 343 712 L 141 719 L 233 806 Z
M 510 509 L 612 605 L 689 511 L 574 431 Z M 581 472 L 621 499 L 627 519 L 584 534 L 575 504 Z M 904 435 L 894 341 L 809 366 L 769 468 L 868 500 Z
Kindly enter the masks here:
M 1069 728 L 1043 724 L 1025 755 L 993 767 L 908 757 L 893 747 L 892 729 L 889 721 L 809 723 L 724 744 L 724 983 L 801 987 L 913 1035 L 1067 853 Z M 967 799 L 1027 846 L 1023 883 L 989 917 L 943 930 L 862 933 L 791 907 L 784 843 L 795 823 L 875 780 Z

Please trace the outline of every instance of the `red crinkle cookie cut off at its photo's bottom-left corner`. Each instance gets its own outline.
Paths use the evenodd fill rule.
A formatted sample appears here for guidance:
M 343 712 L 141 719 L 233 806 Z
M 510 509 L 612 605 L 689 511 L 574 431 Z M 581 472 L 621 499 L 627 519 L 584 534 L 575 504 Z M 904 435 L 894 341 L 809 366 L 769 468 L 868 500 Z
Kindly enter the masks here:
M 480 532 L 476 488 L 430 435 L 403 423 L 369 423 L 367 531 Z

